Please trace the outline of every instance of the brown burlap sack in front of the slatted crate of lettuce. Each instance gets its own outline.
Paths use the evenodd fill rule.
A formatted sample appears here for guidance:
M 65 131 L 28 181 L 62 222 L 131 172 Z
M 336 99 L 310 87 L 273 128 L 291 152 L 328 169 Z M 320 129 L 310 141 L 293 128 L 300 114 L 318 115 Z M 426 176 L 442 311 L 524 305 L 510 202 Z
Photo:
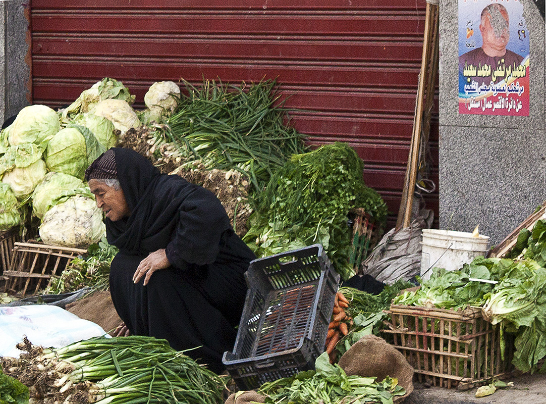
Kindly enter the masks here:
M 413 391 L 413 367 L 396 348 L 375 335 L 360 338 L 341 356 L 339 365 L 348 376 L 358 374 L 377 380 L 387 376 L 397 378 L 406 394 L 394 397 L 394 402 L 404 400 Z

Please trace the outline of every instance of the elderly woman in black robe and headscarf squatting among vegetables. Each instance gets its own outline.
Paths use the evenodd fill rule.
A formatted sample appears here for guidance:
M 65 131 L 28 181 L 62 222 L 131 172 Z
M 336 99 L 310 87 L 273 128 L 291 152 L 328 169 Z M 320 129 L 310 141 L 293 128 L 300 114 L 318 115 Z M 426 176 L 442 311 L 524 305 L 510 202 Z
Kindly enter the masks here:
M 244 307 L 244 272 L 256 258 L 222 204 L 130 149 L 107 150 L 85 177 L 104 212 L 108 242 L 120 249 L 110 293 L 121 333 L 167 339 L 222 372 Z

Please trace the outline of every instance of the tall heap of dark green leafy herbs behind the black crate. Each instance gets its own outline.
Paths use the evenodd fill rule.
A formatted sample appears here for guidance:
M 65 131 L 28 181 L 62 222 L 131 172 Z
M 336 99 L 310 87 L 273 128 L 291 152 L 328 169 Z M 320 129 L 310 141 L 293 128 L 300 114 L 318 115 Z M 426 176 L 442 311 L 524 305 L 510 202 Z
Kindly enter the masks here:
M 321 243 L 337 272 L 349 278 L 354 274 L 349 211 L 363 208 L 378 232 L 387 216 L 386 204 L 366 186 L 362 171 L 362 160 L 346 143 L 292 155 L 259 194 L 244 241 L 257 256 Z

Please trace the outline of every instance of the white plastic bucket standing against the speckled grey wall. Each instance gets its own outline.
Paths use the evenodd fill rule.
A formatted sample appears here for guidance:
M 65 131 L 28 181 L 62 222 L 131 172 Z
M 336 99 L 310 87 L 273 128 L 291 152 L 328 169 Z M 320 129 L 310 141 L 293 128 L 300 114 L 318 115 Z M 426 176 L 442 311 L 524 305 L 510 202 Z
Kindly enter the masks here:
M 421 278 L 429 279 L 434 267 L 459 270 L 475 257 L 485 256 L 488 244 L 489 236 L 472 237 L 472 233 L 462 231 L 423 229 Z

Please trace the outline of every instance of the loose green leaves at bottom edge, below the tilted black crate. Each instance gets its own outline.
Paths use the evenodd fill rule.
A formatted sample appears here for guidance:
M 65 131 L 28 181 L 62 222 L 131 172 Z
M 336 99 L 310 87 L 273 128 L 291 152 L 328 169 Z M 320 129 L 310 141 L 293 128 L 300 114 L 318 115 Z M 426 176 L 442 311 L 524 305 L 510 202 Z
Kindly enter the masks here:
M 267 404 L 392 404 L 394 396 L 406 393 L 394 378 L 377 382 L 373 377 L 347 376 L 339 365 L 330 364 L 327 353 L 317 358 L 315 367 L 316 371 L 264 383 L 258 393 L 265 395 Z

